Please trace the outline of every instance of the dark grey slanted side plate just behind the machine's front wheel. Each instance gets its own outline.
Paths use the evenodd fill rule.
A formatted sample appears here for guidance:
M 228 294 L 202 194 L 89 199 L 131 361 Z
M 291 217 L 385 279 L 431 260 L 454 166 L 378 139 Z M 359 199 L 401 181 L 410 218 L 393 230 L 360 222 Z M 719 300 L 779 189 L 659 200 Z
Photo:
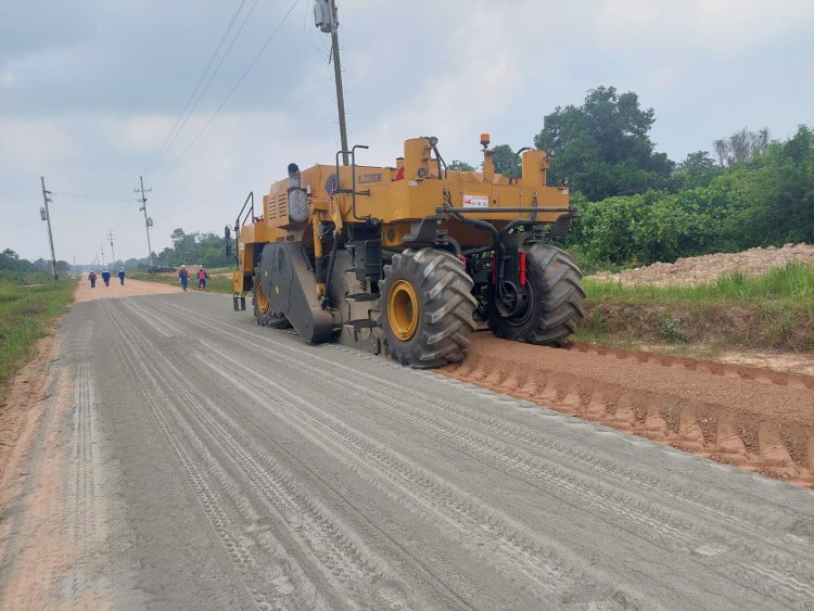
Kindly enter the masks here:
M 319 303 L 316 277 L 302 242 L 276 242 L 263 247 L 260 287 L 272 314 L 285 316 L 306 342 L 331 340 L 333 316 Z

